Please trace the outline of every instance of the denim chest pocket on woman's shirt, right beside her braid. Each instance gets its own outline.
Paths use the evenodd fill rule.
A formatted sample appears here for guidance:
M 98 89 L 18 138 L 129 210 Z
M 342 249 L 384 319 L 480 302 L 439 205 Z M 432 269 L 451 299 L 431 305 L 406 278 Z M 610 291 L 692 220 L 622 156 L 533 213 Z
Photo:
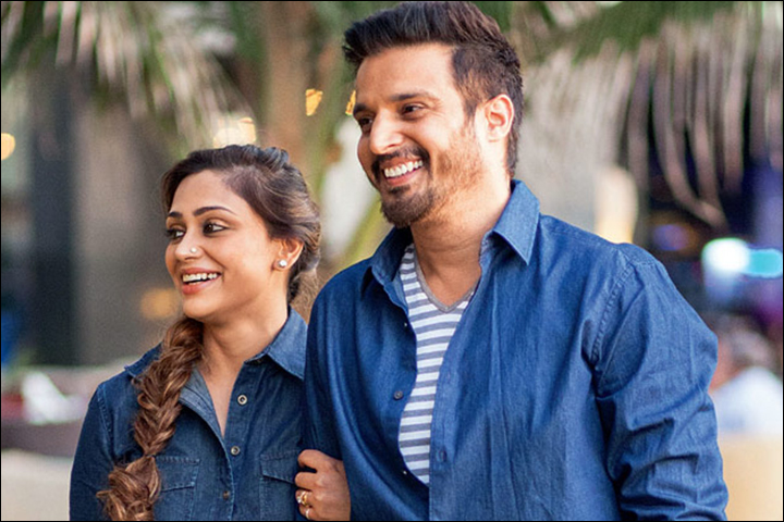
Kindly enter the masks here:
M 199 460 L 187 457 L 156 458 L 161 492 L 155 505 L 156 520 L 192 520 Z

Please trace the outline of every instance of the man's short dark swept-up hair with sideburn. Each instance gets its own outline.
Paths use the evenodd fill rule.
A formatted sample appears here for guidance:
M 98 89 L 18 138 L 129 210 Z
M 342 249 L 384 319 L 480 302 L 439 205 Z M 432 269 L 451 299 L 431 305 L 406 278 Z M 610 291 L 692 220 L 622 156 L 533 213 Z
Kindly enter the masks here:
M 514 175 L 523 115 L 523 78 L 514 49 L 498 23 L 469 2 L 406 2 L 354 23 L 345 32 L 343 53 L 359 69 L 366 58 L 388 49 L 420 44 L 452 46 L 455 87 L 468 117 L 498 95 L 512 99 L 515 115 L 506 147 L 506 166 Z

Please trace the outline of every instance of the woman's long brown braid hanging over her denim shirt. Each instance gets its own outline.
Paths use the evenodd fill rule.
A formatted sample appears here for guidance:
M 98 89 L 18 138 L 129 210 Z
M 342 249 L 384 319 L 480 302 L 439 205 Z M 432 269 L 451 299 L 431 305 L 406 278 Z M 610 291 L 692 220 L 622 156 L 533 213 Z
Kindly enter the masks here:
M 152 520 L 160 493 L 160 473 L 155 457 L 171 440 L 180 415 L 180 393 L 201 359 L 201 323 L 183 318 L 167 332 L 158 360 L 135 383 L 139 411 L 134 439 L 143 456 L 128 464 L 117 464 L 109 473 L 109 489 L 98 493 L 112 520 Z

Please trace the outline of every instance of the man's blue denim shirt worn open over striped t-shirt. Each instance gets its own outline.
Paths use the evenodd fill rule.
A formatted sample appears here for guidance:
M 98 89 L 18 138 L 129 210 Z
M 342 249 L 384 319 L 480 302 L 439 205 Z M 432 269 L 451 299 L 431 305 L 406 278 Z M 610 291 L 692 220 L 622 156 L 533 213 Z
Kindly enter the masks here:
M 430 487 L 407 472 L 411 241 L 393 231 L 310 318 L 305 445 L 344 461 L 354 519 L 724 518 L 715 337 L 650 254 L 540 215 L 519 182 L 441 366 Z

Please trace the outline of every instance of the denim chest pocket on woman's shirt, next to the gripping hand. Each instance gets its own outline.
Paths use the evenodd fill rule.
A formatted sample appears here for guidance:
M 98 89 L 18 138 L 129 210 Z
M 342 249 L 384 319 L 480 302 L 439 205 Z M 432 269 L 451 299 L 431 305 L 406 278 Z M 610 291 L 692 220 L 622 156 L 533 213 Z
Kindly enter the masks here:
M 261 478 L 259 481 L 260 520 L 295 520 L 297 515 L 296 485 L 294 477 L 299 472 L 299 450 L 284 453 L 261 455 Z

